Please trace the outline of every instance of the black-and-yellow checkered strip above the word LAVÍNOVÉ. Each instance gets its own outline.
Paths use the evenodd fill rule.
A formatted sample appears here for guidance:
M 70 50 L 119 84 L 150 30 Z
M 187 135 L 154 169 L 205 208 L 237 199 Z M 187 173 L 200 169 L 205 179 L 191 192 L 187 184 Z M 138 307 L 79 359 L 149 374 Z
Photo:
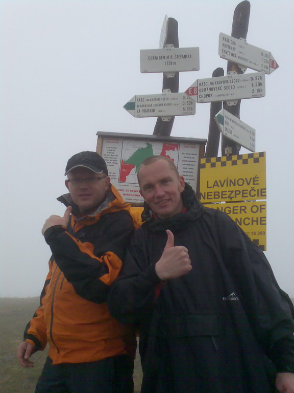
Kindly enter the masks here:
M 242 164 L 252 164 L 259 163 L 262 159 L 265 160 L 265 152 L 242 154 L 235 156 L 222 156 L 222 157 L 211 157 L 202 158 L 200 163 L 200 169 L 205 168 L 218 168 L 222 166 L 234 166 L 238 163 Z

